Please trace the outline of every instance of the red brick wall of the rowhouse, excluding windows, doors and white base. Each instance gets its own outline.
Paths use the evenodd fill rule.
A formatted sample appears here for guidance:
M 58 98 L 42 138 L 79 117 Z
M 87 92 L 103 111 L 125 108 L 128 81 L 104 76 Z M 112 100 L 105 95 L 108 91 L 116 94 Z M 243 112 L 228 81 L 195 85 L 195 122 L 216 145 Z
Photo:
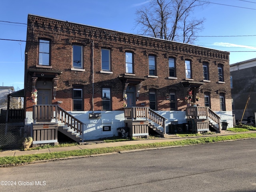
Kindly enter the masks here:
M 38 41 L 47 38 L 51 41 L 51 69 L 38 68 Z M 92 41 L 94 47 L 92 51 Z M 83 66 L 85 71 L 74 71 L 72 68 L 72 43 L 83 45 Z M 111 48 L 112 74 L 100 73 L 101 48 Z M 231 108 L 229 53 L 188 44 L 181 44 L 155 38 L 146 38 L 102 28 L 90 27 L 70 22 L 53 20 L 34 15 L 28 15 L 28 32 L 26 52 L 26 69 L 61 71 L 58 74 L 56 99 L 52 103 L 60 104 L 65 110 L 72 110 L 72 86 L 80 84 L 84 88 L 84 110 L 92 110 L 92 52 L 94 55 L 94 110 L 102 110 L 102 87 L 111 87 L 112 110 L 122 110 L 123 86 L 119 79 L 125 73 L 125 51 L 134 53 L 134 74 L 145 78 L 142 82 L 137 106 L 149 106 L 148 90 L 157 90 L 158 110 L 170 110 L 170 101 L 166 100 L 170 90 L 176 91 L 178 110 L 184 110 L 184 88 L 180 83 L 185 80 L 185 59 L 191 60 L 192 78 L 195 82 L 203 81 L 202 62 L 209 63 L 210 82 L 205 82 L 198 96 L 199 104 L 204 106 L 204 91 L 210 90 L 212 110 L 219 110 L 219 93 L 226 95 L 226 110 Z M 156 56 L 156 71 L 158 78 L 148 77 L 148 54 Z M 168 79 L 168 57 L 176 58 L 177 79 Z M 224 65 L 224 84 L 218 83 L 218 64 Z M 26 71 L 26 70 L 25 70 Z M 26 76 L 27 100 L 32 90 L 33 73 Z M 40 80 L 40 78 L 38 78 Z M 27 111 L 31 111 L 33 103 L 27 102 Z

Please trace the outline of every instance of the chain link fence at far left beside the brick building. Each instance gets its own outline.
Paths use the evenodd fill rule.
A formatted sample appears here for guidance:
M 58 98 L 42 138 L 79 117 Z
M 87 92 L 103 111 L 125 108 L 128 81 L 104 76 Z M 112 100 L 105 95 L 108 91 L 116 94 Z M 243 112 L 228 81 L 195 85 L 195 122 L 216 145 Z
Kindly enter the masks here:
M 26 123 L 1 123 L 0 124 L 0 150 L 19 149 L 27 137 Z M 30 133 L 28 133 L 30 135 Z

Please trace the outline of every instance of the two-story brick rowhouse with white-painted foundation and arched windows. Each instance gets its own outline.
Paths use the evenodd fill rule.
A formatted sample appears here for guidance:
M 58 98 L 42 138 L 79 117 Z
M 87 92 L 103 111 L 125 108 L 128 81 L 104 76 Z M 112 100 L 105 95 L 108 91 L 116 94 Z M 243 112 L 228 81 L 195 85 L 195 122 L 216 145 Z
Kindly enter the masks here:
M 117 135 L 144 113 L 165 118 L 164 126 L 153 120 L 160 129 L 187 123 L 192 104 L 232 126 L 228 52 L 29 14 L 26 53 L 28 122 L 60 109 L 92 140 Z

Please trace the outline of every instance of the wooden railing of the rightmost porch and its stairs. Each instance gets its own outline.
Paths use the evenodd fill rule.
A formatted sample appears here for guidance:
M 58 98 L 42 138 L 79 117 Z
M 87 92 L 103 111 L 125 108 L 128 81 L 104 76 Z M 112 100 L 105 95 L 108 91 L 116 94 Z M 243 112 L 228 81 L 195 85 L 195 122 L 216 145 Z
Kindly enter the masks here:
M 220 122 L 220 116 L 218 116 L 216 113 L 212 111 L 209 107 L 201 107 L 201 106 L 190 106 L 186 108 L 186 118 L 194 118 L 198 119 L 199 117 L 206 117 L 213 120 L 216 124 L 218 124 L 220 130 L 221 130 L 221 122 Z

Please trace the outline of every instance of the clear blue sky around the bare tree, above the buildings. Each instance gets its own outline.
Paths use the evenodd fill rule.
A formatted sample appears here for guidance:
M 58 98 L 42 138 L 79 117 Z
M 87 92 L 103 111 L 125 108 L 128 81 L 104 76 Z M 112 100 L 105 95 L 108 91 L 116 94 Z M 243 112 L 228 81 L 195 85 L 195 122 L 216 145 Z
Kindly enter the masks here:
M 202 0 L 204 1 L 204 0 Z M 195 45 L 230 52 L 230 64 L 256 58 L 256 0 L 208 0 L 195 17 L 204 30 Z M 148 0 L 2 0 L 0 12 L 0 86 L 24 88 L 28 14 L 139 34 L 135 12 Z M 229 6 L 226 6 L 229 5 Z M 222 37 L 221 37 L 222 36 Z M 8 40 L 2 40 L 8 39 Z

